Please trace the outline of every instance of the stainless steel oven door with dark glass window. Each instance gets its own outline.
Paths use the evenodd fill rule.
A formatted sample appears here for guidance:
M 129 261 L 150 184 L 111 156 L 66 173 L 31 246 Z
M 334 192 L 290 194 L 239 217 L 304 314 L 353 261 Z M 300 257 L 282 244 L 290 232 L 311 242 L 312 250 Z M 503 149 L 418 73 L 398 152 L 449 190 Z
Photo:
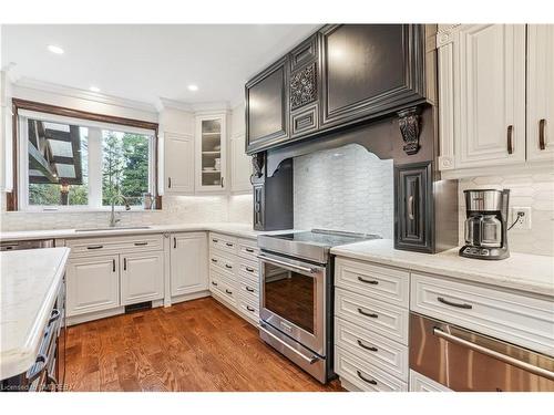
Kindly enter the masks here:
M 263 322 L 325 356 L 326 268 L 267 252 L 258 259 Z

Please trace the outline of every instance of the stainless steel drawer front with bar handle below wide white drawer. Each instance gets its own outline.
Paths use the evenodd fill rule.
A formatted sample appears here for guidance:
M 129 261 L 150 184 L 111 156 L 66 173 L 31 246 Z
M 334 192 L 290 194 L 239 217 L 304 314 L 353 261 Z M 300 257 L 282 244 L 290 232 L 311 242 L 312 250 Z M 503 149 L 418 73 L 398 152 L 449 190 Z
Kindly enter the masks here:
M 410 314 L 410 369 L 459 392 L 554 392 L 554 359 Z

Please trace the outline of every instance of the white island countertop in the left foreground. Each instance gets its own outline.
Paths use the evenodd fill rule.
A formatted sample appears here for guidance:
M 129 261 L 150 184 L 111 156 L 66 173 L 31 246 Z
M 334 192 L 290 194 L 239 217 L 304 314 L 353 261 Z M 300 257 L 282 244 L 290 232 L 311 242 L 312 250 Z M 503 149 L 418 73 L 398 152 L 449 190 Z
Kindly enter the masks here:
M 0 378 L 33 365 L 69 253 L 69 248 L 0 252 Z

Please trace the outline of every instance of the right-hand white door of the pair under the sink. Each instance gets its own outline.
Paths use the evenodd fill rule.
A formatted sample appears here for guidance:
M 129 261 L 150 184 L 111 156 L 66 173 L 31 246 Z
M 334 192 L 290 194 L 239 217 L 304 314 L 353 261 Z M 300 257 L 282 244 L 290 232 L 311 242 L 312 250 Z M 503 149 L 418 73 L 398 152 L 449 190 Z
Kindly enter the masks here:
M 140 252 L 122 256 L 121 303 L 135 304 L 164 297 L 163 252 Z

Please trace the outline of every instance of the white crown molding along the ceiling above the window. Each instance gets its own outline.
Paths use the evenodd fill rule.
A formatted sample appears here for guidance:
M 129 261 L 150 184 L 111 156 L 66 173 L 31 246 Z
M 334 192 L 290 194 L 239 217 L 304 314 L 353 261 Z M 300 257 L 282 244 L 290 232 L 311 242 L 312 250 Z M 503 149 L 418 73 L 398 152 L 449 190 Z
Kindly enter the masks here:
M 54 84 L 54 83 L 44 82 L 44 81 L 32 80 L 29 77 L 22 77 L 22 79 L 18 80 L 17 82 L 13 83 L 13 86 L 16 89 L 49 92 L 49 93 L 54 93 L 58 95 L 71 96 L 71 97 L 75 97 L 75 98 L 99 102 L 102 104 L 121 106 L 124 108 L 138 110 L 138 111 L 144 111 L 144 112 L 148 112 L 148 113 L 153 113 L 153 114 L 157 113 L 155 105 L 152 105 L 152 104 L 148 104 L 145 102 L 133 101 L 133 100 L 122 98 L 122 97 L 117 97 L 117 96 L 95 93 L 95 92 L 91 92 L 91 91 L 80 90 L 76 87 Z

